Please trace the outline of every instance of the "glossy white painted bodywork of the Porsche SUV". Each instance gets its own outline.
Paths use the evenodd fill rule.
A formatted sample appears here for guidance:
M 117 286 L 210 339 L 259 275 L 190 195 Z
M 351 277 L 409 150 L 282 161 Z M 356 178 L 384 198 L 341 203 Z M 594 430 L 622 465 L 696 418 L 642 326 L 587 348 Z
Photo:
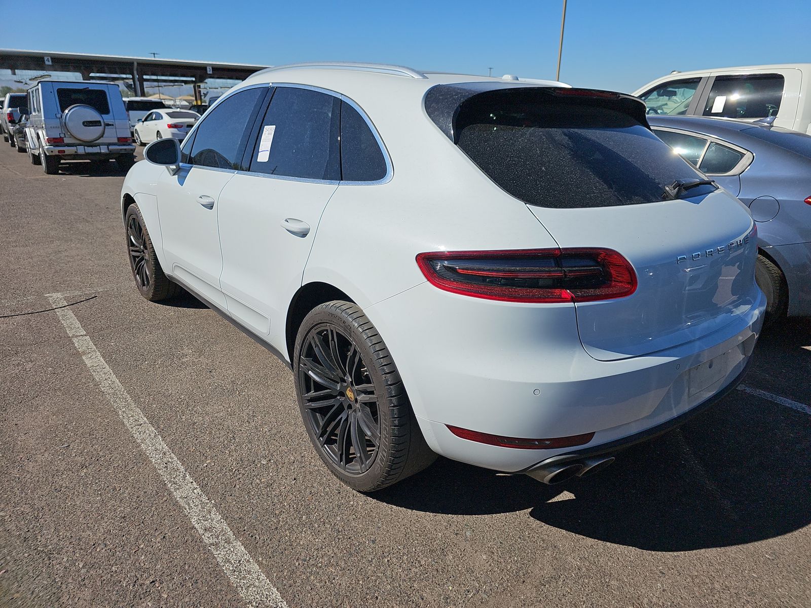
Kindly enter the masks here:
M 183 169 L 179 185 L 163 167 L 138 163 L 144 167 L 131 171 L 122 194 L 157 196 L 158 255 L 170 276 L 177 268 L 196 273 L 204 288 L 220 295 L 209 300 L 287 358 L 286 313 L 297 290 L 324 282 L 348 294 L 385 340 L 423 434 L 444 456 L 491 469 L 526 469 L 566 450 L 488 446 L 460 439 L 445 425 L 524 438 L 594 431 L 590 445 L 598 445 L 667 422 L 731 382 L 751 352 L 744 342 L 751 346 L 762 324 L 765 300 L 753 276 L 743 281 L 740 298 L 749 305 L 740 314 L 687 340 L 672 339 L 677 323 L 668 316 L 661 348 L 645 356 L 626 349 L 641 344 L 632 321 L 641 309 L 617 302 L 601 303 L 602 310 L 593 306 L 589 318 L 616 313 L 619 319 L 616 334 L 605 333 L 599 345 L 624 355 L 613 361 L 599 361 L 596 351 L 584 348 L 581 312 L 571 303 L 493 302 L 427 283 L 415 262 L 424 251 L 610 246 L 641 267 L 661 255 L 672 257 L 676 268 L 682 247 L 689 252 L 694 245 L 725 242 L 752 225 L 749 212 L 720 193 L 708 196 L 701 212 L 685 201 L 571 213 L 528 208 L 491 182 L 423 109 L 428 88 L 478 79 L 487 80 L 324 69 L 252 75 L 239 88 L 275 80 L 340 92 L 356 102 L 388 150 L 392 177 L 376 185 L 336 186 Z M 213 212 L 195 202 L 200 194 L 217 198 Z M 147 218 L 150 233 L 156 232 L 153 216 Z M 287 233 L 280 226 L 285 218 L 310 225 L 307 236 Z M 741 276 L 749 272 L 745 264 L 741 268 Z M 655 306 L 651 295 L 646 288 L 639 302 Z M 723 375 L 710 387 L 691 390 L 685 374 L 719 355 L 726 362 Z

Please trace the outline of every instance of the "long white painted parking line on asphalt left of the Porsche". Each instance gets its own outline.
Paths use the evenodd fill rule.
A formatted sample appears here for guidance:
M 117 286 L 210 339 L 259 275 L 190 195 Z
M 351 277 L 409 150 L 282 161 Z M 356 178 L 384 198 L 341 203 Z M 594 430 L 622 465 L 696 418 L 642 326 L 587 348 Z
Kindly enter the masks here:
M 49 293 L 46 298 L 49 299 L 51 306 L 67 305 L 62 293 Z M 113 370 L 109 369 L 73 311 L 70 308 L 59 308 L 55 312 L 62 321 L 67 335 L 71 336 L 76 349 L 84 358 L 84 363 L 96 379 L 101 392 L 107 396 L 124 426 L 127 426 L 127 430 L 146 452 L 149 460 L 152 460 L 152 465 L 155 465 L 169 491 L 180 503 L 239 594 L 249 606 L 286 608 L 287 605 L 277 589 L 234 536 L 214 504 L 204 495 L 203 490 L 200 490 L 200 486 L 189 476 L 178 457 L 169 450 L 161 435 L 158 435 L 155 427 L 144 417 L 144 413 L 118 382 Z

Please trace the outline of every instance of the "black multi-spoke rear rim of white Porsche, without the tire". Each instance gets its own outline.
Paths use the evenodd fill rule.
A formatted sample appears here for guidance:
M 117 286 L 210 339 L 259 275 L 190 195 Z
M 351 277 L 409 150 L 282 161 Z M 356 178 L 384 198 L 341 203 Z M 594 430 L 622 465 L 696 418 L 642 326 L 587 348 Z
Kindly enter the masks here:
M 358 347 L 324 323 L 307 335 L 298 361 L 307 424 L 321 450 L 345 473 L 365 473 L 380 447 L 380 411 Z

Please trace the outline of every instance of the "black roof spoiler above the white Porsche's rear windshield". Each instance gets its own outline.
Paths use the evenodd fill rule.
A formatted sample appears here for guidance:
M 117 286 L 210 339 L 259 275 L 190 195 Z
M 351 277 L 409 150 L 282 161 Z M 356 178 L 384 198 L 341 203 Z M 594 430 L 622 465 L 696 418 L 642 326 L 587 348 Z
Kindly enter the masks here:
M 458 134 L 454 132 L 454 127 L 462 105 L 479 95 L 509 95 L 511 91 L 526 92 L 527 89 L 541 93 L 542 99 L 548 99 L 552 104 L 571 103 L 613 109 L 627 114 L 646 129 L 650 129 L 644 101 L 633 95 L 593 88 L 539 87 L 532 83 L 498 82 L 437 84 L 428 89 L 423 103 L 428 117 L 448 139 L 457 143 Z

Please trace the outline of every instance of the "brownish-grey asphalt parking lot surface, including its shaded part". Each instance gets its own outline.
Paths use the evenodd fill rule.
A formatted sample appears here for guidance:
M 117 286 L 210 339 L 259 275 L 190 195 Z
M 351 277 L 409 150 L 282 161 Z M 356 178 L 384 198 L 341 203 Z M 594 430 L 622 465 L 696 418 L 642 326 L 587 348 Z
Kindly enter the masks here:
M 139 296 L 91 170 L 0 143 L 0 606 L 811 606 L 811 321 L 594 477 L 440 459 L 361 495 L 281 362 Z

